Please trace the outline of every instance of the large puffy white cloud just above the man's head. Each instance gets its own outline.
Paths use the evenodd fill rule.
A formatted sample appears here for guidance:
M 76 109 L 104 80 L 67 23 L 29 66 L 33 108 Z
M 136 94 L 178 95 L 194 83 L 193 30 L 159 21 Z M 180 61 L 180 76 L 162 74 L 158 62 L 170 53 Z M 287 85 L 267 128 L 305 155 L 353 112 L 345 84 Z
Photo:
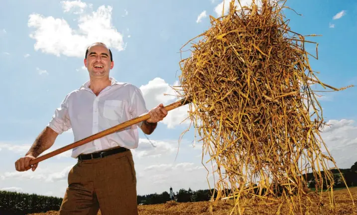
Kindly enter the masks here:
M 64 11 L 88 8 L 81 1 L 63 1 L 62 5 Z M 123 36 L 113 26 L 112 10 L 112 6 L 102 5 L 92 12 L 77 11 L 78 29 L 72 29 L 64 18 L 32 13 L 28 18 L 28 27 L 34 29 L 29 35 L 36 41 L 34 49 L 56 56 L 84 57 L 90 44 L 104 42 L 110 48 L 121 51 L 124 49 Z

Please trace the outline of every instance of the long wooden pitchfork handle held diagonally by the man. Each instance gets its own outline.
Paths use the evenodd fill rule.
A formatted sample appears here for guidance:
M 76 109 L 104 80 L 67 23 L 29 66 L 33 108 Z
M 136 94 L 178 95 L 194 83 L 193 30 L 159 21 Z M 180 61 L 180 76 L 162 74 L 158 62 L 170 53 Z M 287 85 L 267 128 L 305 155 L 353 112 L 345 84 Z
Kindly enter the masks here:
M 172 109 L 178 108 L 178 107 L 186 105 L 188 103 L 190 103 L 190 101 L 188 99 L 181 99 L 181 100 L 179 100 L 177 102 L 174 102 L 174 103 L 171 103 L 171 104 L 165 106 L 164 108 L 165 108 L 166 111 L 170 111 Z M 146 113 L 146 114 L 138 116 L 138 117 L 136 117 L 134 119 L 128 120 L 128 121 L 123 122 L 123 123 L 120 123 L 119 125 L 116 125 L 116 126 L 114 126 L 112 128 L 106 129 L 106 130 L 101 131 L 101 132 L 99 132 L 97 134 L 91 135 L 91 136 L 86 137 L 86 138 L 84 138 L 82 140 L 79 140 L 77 142 L 74 142 L 72 144 L 64 146 L 62 148 L 59 148 L 59 149 L 57 149 L 55 151 L 52 151 L 52 152 L 49 152 L 49 153 L 47 153 L 45 155 L 39 156 L 39 157 L 37 157 L 37 158 L 35 158 L 35 159 L 30 161 L 30 166 L 32 166 L 34 164 L 37 164 L 37 163 L 39 163 L 39 162 L 41 162 L 43 160 L 46 160 L 48 158 L 51 158 L 51 157 L 53 157 L 55 155 L 58 155 L 58 154 L 60 154 L 62 152 L 68 151 L 68 150 L 76 148 L 78 146 L 82 146 L 82 145 L 84 145 L 86 143 L 89 143 L 91 141 L 97 140 L 97 139 L 99 139 L 101 137 L 107 136 L 109 134 L 117 132 L 117 131 L 119 131 L 121 129 L 124 129 L 126 127 L 132 126 L 132 125 L 134 125 L 136 123 L 139 123 L 139 122 L 142 122 L 144 120 L 147 120 L 149 118 L 150 118 L 149 113 Z

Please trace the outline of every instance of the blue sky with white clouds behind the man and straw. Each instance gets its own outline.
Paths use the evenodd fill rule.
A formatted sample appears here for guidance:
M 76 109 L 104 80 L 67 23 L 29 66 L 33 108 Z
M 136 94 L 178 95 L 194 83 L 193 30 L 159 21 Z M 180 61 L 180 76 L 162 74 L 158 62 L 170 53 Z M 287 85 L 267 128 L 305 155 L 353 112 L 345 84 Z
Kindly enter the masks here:
M 103 41 L 111 47 L 115 61 L 111 75 L 140 87 L 148 108 L 169 104 L 172 97 L 162 94 L 172 92 L 169 85 L 178 81 L 180 48 L 210 27 L 209 15 L 217 17 L 221 3 L 2 1 L 0 189 L 63 196 L 68 171 L 76 162 L 69 153 L 41 162 L 35 172 L 18 173 L 14 162 L 29 149 L 64 96 L 88 80 L 82 68 L 87 44 Z M 335 87 L 356 85 L 357 2 L 288 0 L 286 4 L 302 14 L 284 10 L 293 31 L 322 34 L 310 38 L 319 43 L 319 60 L 310 57 L 310 63 L 320 72 L 320 80 Z M 314 44 L 308 49 L 316 55 Z M 324 117 L 333 124 L 323 137 L 338 166 L 349 168 L 357 161 L 357 87 L 323 94 Z M 188 128 L 187 122 L 179 125 L 186 112 L 187 107 L 176 109 L 158 125 L 149 136 L 156 148 L 140 132 L 139 148 L 133 151 L 138 194 L 161 193 L 170 186 L 174 191 L 208 188 L 201 149 L 191 145 L 192 129 L 184 136 L 175 161 L 178 139 Z M 66 132 L 51 150 L 72 142 L 73 134 Z

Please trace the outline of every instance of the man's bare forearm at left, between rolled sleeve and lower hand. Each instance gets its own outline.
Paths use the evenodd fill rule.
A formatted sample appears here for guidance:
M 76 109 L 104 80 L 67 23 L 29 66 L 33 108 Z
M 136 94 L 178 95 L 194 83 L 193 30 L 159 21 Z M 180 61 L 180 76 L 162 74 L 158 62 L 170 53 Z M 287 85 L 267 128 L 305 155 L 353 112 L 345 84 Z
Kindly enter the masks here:
M 55 142 L 58 134 L 53 131 L 51 128 L 46 127 L 43 131 L 38 135 L 34 143 L 32 144 L 30 150 L 26 153 L 26 155 L 31 155 L 33 157 L 39 156 L 42 152 L 49 149 L 53 143 Z

